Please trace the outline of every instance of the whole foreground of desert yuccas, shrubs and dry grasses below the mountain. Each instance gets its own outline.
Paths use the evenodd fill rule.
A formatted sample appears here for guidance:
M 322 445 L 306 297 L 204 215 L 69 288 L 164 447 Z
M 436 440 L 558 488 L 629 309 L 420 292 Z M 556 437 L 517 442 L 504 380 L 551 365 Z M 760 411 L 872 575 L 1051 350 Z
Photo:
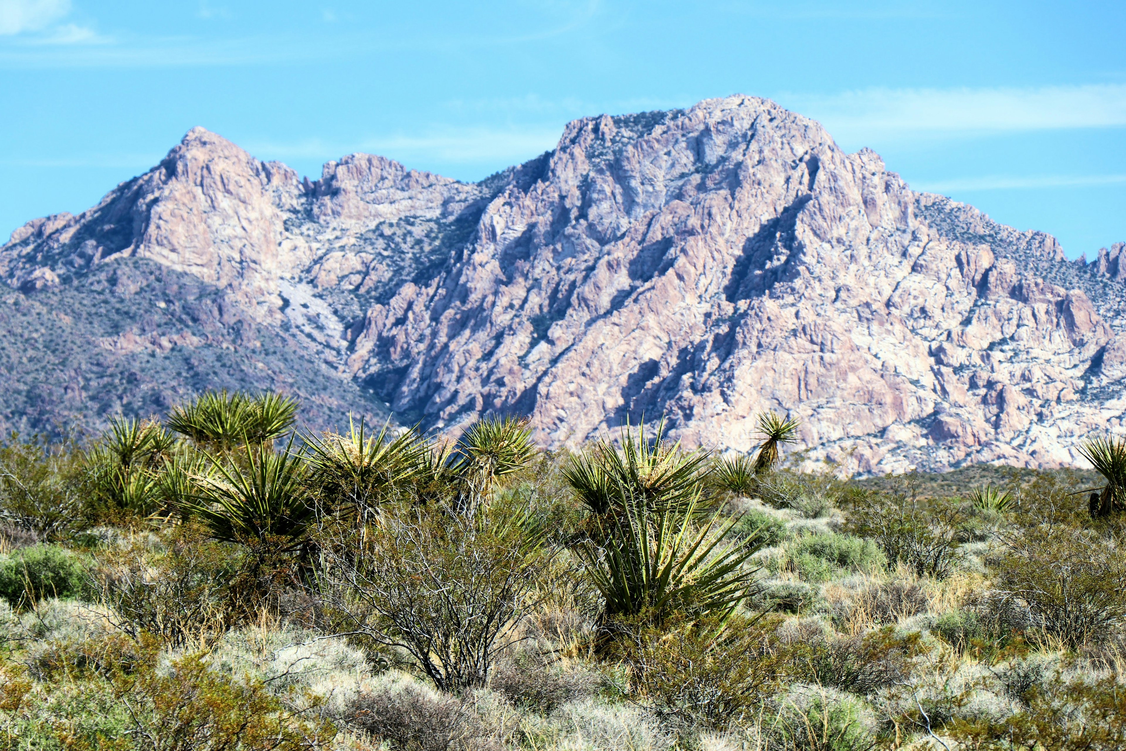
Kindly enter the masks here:
M 1121 442 L 851 480 L 774 413 L 736 456 L 298 409 L 0 448 L 0 748 L 1126 748 Z

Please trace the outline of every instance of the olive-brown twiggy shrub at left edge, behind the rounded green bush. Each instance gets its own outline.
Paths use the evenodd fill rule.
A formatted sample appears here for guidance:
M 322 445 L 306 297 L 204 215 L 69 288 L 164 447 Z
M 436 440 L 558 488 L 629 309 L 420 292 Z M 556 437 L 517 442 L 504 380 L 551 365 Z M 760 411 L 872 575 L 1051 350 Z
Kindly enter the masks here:
M 0 519 L 42 539 L 62 539 L 89 522 L 86 472 L 77 448 L 12 433 L 0 447 Z

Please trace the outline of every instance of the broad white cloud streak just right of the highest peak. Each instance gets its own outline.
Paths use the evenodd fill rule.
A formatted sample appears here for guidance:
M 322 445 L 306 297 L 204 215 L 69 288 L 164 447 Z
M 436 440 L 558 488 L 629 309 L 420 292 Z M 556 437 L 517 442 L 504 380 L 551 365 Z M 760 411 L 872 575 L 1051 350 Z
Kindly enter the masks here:
M 783 96 L 779 101 L 819 119 L 839 138 L 1126 125 L 1126 84 L 1123 83 L 865 89 L 822 97 Z

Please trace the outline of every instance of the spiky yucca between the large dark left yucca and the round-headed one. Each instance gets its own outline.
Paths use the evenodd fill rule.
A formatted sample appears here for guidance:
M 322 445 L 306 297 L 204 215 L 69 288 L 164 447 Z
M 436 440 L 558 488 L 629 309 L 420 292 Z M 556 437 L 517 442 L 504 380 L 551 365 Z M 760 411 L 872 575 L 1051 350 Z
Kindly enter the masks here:
M 348 435 L 306 436 L 310 485 L 331 510 L 375 510 L 388 494 L 415 484 L 430 458 L 429 446 L 414 430 L 395 435 L 390 423 L 375 435 L 349 418 Z

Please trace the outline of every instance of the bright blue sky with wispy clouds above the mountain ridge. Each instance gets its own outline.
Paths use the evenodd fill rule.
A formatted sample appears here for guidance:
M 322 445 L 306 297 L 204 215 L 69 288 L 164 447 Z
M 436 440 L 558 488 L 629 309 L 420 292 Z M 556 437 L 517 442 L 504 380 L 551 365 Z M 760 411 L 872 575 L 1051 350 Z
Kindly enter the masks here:
M 316 177 L 354 151 L 475 180 L 569 119 L 770 97 L 912 187 L 1126 240 L 1126 3 L 0 0 L 0 236 L 194 125 Z

